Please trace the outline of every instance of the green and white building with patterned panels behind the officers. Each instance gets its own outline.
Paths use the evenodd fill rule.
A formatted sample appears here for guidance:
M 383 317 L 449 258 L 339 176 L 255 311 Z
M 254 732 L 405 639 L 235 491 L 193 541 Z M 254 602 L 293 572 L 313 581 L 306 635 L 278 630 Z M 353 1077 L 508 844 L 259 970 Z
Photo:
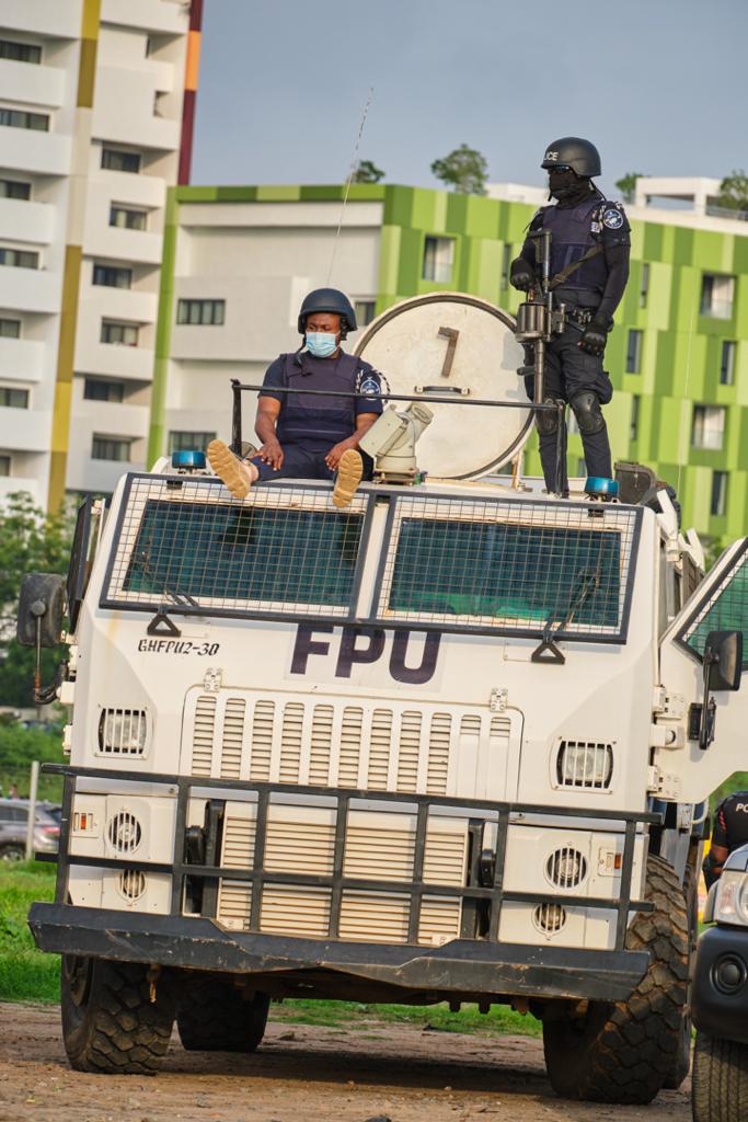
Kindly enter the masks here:
M 606 415 L 615 458 L 655 468 L 678 488 L 685 525 L 729 539 L 748 525 L 748 223 L 712 213 L 713 182 L 638 183 L 628 209 L 631 274 L 607 349 L 616 394 Z M 229 435 L 229 379 L 260 380 L 280 351 L 298 346 L 296 315 L 310 288 L 343 288 L 362 324 L 438 291 L 514 312 L 509 263 L 542 190 L 495 185 L 479 197 L 361 184 L 342 212 L 343 194 L 340 185 L 172 190 L 150 460 Z M 574 475 L 581 458 L 573 434 Z M 524 470 L 539 473 L 534 436 Z

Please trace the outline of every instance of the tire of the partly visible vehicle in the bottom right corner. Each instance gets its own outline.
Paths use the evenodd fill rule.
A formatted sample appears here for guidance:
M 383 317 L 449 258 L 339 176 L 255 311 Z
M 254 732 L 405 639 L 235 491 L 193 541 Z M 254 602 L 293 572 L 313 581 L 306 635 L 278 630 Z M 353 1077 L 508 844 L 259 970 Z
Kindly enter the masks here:
M 696 1032 L 691 1106 L 693 1122 L 745 1122 L 748 1045 Z

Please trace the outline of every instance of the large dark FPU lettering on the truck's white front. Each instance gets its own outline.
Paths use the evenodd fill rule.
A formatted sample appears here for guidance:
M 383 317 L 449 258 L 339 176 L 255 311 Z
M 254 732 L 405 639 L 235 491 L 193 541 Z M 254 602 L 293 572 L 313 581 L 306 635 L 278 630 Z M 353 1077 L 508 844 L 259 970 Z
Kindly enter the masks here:
M 393 634 L 389 652 L 389 673 L 396 682 L 423 686 L 431 681 L 436 670 L 441 635 L 427 632 L 418 665 L 408 659 L 408 644 L 414 633 L 406 629 Z M 322 638 L 332 635 L 332 640 Z M 335 647 L 336 645 L 336 653 Z M 343 627 L 335 635 L 332 626 L 310 627 L 299 624 L 290 662 L 292 674 L 306 674 L 311 657 L 335 657 L 335 678 L 350 678 L 353 666 L 378 662 L 387 646 L 387 632 L 381 627 Z

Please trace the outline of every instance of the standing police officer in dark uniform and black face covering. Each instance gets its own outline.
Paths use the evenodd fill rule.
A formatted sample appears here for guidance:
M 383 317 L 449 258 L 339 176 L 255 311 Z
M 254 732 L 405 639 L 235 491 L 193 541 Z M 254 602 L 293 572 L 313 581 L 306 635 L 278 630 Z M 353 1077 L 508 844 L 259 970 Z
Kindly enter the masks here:
M 610 478 L 612 465 L 608 430 L 601 405 L 612 397 L 602 356 L 612 328 L 613 312 L 628 279 L 630 227 L 620 203 L 609 202 L 592 183 L 600 175 L 600 155 L 580 137 L 554 140 L 541 165 L 548 172 L 548 190 L 557 200 L 543 206 L 529 224 L 529 233 L 551 231 L 551 285 L 556 303 L 566 305 L 566 327 L 546 347 L 545 402 L 567 402 L 579 424 L 589 476 Z M 538 283 L 535 240 L 528 237 L 511 263 L 510 279 L 521 292 Z M 556 282 L 554 284 L 554 280 Z M 533 399 L 534 378 L 525 378 Z M 555 489 L 556 414 L 536 416 L 543 475 L 548 490 Z M 564 433 L 564 480 L 566 441 Z

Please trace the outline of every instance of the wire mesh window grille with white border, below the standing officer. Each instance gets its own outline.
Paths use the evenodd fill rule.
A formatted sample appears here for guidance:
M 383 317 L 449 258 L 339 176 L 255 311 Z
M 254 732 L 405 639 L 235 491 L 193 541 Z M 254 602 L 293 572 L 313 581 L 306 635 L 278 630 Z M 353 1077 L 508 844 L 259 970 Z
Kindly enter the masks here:
M 622 638 L 640 512 L 581 504 L 397 499 L 376 615 Z

